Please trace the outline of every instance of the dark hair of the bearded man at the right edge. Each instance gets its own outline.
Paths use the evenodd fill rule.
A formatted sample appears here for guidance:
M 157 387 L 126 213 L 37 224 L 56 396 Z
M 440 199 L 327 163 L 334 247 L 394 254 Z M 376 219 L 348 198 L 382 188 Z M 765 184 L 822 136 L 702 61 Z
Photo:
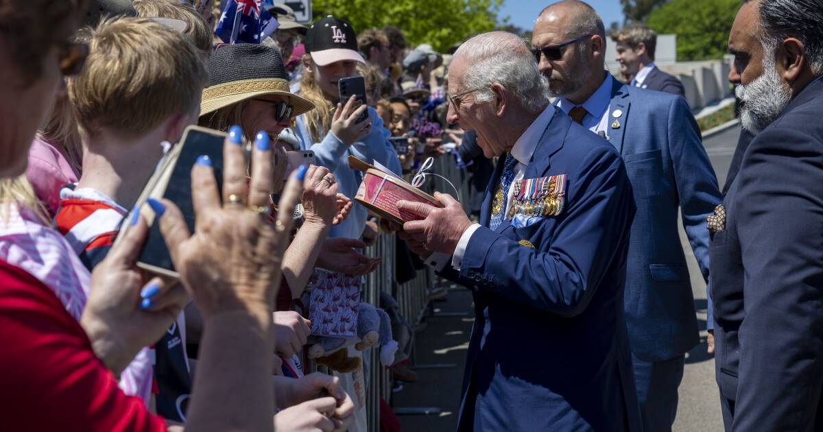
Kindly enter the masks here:
M 811 71 L 823 73 L 823 0 L 760 0 L 760 28 L 764 49 L 797 38 L 806 49 Z

